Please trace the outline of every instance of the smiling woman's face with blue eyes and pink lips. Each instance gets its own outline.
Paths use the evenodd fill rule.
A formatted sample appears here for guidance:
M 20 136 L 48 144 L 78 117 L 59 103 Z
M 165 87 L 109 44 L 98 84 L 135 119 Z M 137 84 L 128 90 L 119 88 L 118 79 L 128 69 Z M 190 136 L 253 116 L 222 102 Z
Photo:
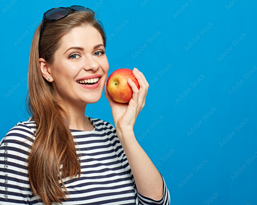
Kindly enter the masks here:
M 72 106 L 97 102 L 105 86 L 109 64 L 101 34 L 94 27 L 74 28 L 63 38 L 50 67 L 53 95 Z M 95 79 L 94 79 L 95 78 Z M 82 85 L 90 80 L 95 85 Z M 83 82 L 82 82 L 83 83 Z M 93 83 L 93 82 L 92 82 Z

